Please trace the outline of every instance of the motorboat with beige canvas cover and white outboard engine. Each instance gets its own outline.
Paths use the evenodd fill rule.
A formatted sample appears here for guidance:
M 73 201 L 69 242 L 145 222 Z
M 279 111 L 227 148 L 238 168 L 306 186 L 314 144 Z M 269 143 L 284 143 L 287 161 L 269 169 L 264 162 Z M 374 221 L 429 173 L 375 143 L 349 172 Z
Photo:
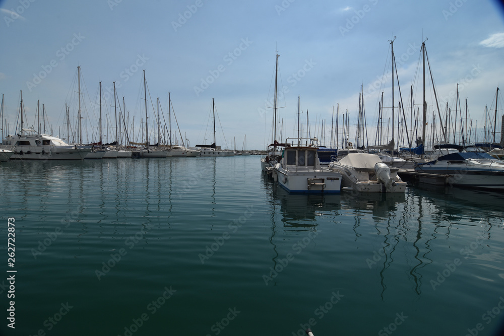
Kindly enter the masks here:
M 329 164 L 329 169 L 342 175 L 342 190 L 359 192 L 404 192 L 406 182 L 397 175 L 398 168 L 389 167 L 379 156 L 349 153 Z

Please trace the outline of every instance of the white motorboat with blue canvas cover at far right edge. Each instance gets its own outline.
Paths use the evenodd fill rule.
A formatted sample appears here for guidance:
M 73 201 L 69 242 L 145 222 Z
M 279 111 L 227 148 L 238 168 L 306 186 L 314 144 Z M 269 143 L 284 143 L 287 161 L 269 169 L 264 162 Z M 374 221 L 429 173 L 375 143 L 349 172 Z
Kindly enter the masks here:
M 504 190 L 504 162 L 486 153 L 447 154 L 418 165 L 415 172 L 448 175 L 450 185 Z

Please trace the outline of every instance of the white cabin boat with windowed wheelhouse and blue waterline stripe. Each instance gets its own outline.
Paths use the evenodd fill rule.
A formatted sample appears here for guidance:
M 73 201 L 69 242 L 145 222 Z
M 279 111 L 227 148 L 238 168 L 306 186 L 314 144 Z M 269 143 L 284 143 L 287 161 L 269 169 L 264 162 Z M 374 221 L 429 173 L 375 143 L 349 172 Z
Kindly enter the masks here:
M 286 147 L 280 162 L 274 165 L 273 177 L 289 192 L 339 193 L 341 190 L 341 174 L 321 167 L 314 144 Z

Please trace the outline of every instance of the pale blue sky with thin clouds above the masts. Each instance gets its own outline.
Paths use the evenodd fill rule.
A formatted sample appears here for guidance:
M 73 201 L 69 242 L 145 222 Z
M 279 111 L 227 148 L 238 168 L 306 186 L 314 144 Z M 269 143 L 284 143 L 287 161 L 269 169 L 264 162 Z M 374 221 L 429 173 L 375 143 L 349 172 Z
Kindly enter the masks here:
M 283 120 L 282 138 L 296 132 L 298 96 L 301 118 L 309 111 L 312 136 L 321 138 L 316 125 L 320 128 L 320 120 L 325 119 L 329 139 L 332 108 L 338 103 L 340 113 L 348 110 L 350 124 L 355 124 L 361 85 L 368 133 L 374 137 L 372 127 L 381 91 L 384 105 L 391 104 L 390 75 L 381 82 L 390 71 L 390 40 L 394 36 L 405 104 L 410 85 L 414 85 L 415 103 L 421 102 L 417 65 L 425 38 L 443 112 L 447 100 L 455 109 L 455 99 L 450 97 L 459 83 L 463 108 L 467 98 L 470 119 L 482 126 L 485 105 L 490 108 L 495 104 L 495 90 L 504 75 L 504 14 L 500 5 L 490 0 L 9 0 L 0 2 L 0 7 L 0 94 L 5 95 L 10 133 L 23 90 L 28 124 L 34 123 L 40 100 L 47 111 L 46 128 L 50 124 L 54 135 L 66 137 L 65 103 L 71 106 L 73 123 L 77 116 L 78 65 L 86 89 L 85 141 L 95 138 L 99 81 L 104 92 L 116 82 L 130 123 L 135 116 L 136 134 L 130 137 L 136 139 L 140 127 L 145 127 L 140 124 L 140 119 L 145 119 L 145 70 L 151 129 L 155 120 L 152 105 L 155 108 L 159 97 L 167 119 L 170 92 L 182 137 L 192 146 L 211 144 L 212 125 L 207 127 L 207 123 L 214 97 L 220 119 L 217 145 L 226 147 L 225 137 L 231 147 L 236 139 L 238 149 L 245 135 L 248 148 L 263 149 L 271 141 L 272 110 L 265 106 L 273 96 L 277 50 L 281 55 L 279 81 L 284 88 L 279 106 L 285 108 L 278 111 L 280 122 Z M 427 93 L 429 115 L 434 108 L 431 97 Z M 114 117 L 113 98 L 107 94 L 104 98 L 105 129 L 105 113 L 109 124 Z M 397 106 L 397 88 L 395 98 Z M 500 118 L 502 111 L 497 114 Z M 114 133 L 110 128 L 106 140 L 114 138 Z

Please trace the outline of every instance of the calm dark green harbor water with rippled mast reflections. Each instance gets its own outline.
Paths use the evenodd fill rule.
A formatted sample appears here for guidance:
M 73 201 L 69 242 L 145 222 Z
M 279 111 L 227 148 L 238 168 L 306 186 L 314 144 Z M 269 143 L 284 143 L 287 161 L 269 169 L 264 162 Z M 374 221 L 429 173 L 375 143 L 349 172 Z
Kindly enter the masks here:
M 0 334 L 491 335 L 500 326 L 502 194 L 289 195 L 259 159 L 2 163 Z M 17 271 L 15 329 L 8 270 Z

